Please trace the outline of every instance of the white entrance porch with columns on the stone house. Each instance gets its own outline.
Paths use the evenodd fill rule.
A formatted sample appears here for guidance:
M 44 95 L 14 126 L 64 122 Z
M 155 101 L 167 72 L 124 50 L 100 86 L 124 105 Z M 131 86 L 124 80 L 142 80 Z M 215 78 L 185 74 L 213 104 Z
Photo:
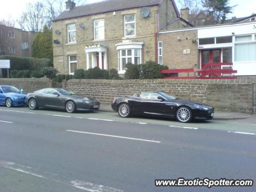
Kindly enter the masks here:
M 108 60 L 107 60 L 107 51 L 108 49 L 104 46 L 95 45 L 95 46 L 86 46 L 86 70 L 89 68 L 94 68 L 98 66 L 100 69 L 108 69 Z

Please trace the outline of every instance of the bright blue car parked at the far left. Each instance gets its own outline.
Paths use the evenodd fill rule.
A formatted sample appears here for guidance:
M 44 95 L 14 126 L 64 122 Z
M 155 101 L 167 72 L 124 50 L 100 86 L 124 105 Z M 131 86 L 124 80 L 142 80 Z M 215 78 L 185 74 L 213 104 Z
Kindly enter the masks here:
M 0 85 L 0 105 L 6 107 L 26 105 L 26 95 L 23 90 L 13 86 Z

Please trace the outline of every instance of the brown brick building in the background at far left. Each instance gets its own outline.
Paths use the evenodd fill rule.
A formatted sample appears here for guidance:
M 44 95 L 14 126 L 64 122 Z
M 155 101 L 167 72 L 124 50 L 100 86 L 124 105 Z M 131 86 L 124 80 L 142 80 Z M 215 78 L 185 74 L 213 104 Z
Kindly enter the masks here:
M 31 57 L 36 32 L 0 25 L 0 55 Z

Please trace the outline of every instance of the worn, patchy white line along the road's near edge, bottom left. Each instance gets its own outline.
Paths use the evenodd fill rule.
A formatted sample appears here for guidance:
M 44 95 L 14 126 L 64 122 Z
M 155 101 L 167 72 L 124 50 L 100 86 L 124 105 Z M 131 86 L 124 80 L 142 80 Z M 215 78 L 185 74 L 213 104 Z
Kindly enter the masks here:
M 52 176 L 50 176 L 50 178 L 48 178 L 41 174 L 35 173 L 35 172 L 39 172 L 36 169 L 32 169 L 31 167 L 28 167 L 28 166 L 19 165 L 14 162 L 0 161 L 0 167 L 11 169 L 11 170 L 18 171 L 18 172 L 22 172 L 25 174 L 39 177 L 39 178 L 44 178 L 46 180 L 50 180 L 50 181 L 57 182 L 57 183 L 60 183 L 63 185 L 79 188 L 79 189 L 86 190 L 89 192 L 123 192 L 122 190 L 119 190 L 116 188 L 112 188 L 112 187 L 108 187 L 108 186 L 104 186 L 104 185 L 98 185 L 98 184 L 90 183 L 90 182 L 86 182 L 86 181 L 73 180 L 70 182 L 68 182 L 68 181 L 62 182 L 62 181 L 59 181 L 60 177 L 57 174 L 52 174 L 52 175 L 54 175 L 56 178 L 58 178 L 58 180 L 52 178 Z

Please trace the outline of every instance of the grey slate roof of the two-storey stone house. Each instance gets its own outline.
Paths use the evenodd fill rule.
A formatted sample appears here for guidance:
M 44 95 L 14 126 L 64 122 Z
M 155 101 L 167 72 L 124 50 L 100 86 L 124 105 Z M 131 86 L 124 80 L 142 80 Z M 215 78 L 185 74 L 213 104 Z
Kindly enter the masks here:
M 161 2 L 162 0 L 105 0 L 98 3 L 92 3 L 92 4 L 83 5 L 83 6 L 76 6 L 72 10 L 62 12 L 53 21 L 130 9 L 130 8 L 137 8 L 137 7 L 143 7 L 143 6 L 160 5 Z M 174 7 L 176 7 L 175 3 L 174 3 Z

